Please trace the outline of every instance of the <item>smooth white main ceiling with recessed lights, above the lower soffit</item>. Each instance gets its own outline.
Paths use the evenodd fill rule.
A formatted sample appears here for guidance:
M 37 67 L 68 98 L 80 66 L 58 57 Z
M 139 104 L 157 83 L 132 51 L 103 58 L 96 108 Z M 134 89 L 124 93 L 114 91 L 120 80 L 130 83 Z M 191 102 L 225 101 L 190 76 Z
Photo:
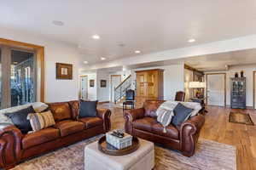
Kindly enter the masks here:
M 149 54 L 256 34 L 255 7 L 255 0 L 5 0 L 0 27 L 73 43 L 82 60 L 96 64 L 137 49 Z

